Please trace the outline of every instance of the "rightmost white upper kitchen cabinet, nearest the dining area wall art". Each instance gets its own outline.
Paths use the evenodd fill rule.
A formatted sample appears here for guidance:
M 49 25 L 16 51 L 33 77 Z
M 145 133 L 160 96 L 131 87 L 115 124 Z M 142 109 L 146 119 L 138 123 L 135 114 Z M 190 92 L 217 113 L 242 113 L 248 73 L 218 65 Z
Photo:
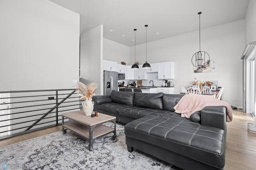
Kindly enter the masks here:
M 158 63 L 158 79 L 174 79 L 174 62 Z

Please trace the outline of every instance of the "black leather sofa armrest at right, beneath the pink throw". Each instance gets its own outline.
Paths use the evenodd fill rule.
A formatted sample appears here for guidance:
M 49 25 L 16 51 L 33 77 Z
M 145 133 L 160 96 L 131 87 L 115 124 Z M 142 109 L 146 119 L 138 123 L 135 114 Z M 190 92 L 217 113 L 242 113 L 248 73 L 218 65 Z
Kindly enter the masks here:
M 221 128 L 226 131 L 226 107 L 204 107 L 201 111 L 201 125 Z

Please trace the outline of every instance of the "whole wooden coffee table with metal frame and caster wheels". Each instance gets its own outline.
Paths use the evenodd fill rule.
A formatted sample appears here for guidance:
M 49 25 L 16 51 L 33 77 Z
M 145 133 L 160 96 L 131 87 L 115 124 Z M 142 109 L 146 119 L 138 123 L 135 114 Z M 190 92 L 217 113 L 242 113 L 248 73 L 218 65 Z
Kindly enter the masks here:
M 69 121 L 64 123 L 65 117 L 68 118 Z M 114 128 L 102 125 L 106 122 L 113 122 Z M 113 132 L 112 140 L 116 139 L 116 117 L 103 113 L 99 113 L 98 117 L 85 116 L 83 111 L 63 113 L 62 132 L 64 134 L 67 132 L 65 128 L 88 139 L 90 151 L 92 151 L 93 142 L 96 138 Z

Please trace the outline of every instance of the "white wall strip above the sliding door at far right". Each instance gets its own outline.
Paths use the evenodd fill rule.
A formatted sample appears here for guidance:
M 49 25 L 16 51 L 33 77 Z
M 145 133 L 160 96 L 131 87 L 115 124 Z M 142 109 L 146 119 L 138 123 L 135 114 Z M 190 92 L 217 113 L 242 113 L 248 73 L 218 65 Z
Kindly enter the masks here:
M 245 44 L 253 41 L 256 41 L 256 1 L 250 0 L 245 17 Z

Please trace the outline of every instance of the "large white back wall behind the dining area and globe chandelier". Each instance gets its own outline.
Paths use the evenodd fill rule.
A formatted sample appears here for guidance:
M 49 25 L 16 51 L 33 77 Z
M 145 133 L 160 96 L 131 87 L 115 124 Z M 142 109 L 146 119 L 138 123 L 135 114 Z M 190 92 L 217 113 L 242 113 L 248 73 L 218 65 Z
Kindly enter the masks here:
M 175 93 L 182 86 L 192 84 L 194 77 L 205 81 L 217 80 L 224 87 L 222 100 L 242 107 L 242 60 L 244 50 L 245 22 L 239 20 L 201 30 L 201 50 L 215 59 L 213 73 L 194 73 L 191 58 L 199 51 L 199 31 L 148 43 L 148 63 L 174 61 Z M 150 35 L 148 35 L 150 36 Z M 136 46 L 136 58 L 140 64 L 146 61 L 145 44 Z M 130 63 L 134 60 L 134 47 L 130 48 Z

